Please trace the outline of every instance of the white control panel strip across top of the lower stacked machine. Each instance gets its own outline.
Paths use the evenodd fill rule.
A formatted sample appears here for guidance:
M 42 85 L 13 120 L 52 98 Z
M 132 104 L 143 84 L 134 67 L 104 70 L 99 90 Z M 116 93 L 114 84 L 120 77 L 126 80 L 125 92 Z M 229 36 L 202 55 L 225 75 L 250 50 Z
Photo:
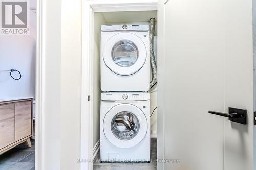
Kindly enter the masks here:
M 145 101 L 150 100 L 150 94 L 145 92 L 108 92 L 101 93 L 102 101 Z

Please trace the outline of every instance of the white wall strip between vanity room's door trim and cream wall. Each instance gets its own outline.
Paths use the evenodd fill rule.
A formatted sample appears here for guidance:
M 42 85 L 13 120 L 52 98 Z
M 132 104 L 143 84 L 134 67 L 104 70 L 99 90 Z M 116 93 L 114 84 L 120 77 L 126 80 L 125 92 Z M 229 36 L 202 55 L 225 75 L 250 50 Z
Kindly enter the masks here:
M 60 169 L 61 0 L 42 1 L 41 169 Z M 63 115 L 64 116 L 64 115 Z M 72 126 L 72 122 L 67 126 Z M 72 135 L 72 134 L 71 134 Z

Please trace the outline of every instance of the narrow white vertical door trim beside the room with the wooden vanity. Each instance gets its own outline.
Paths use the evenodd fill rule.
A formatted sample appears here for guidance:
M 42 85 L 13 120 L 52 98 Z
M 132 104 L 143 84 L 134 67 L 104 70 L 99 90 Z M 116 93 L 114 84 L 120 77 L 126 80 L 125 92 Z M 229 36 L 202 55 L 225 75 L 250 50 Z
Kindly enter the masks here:
M 41 170 L 42 168 L 42 131 L 44 127 L 42 127 L 42 114 L 44 108 L 44 75 L 43 75 L 43 68 L 44 68 L 44 60 L 42 58 L 44 43 L 42 39 L 42 26 L 43 26 L 43 18 L 42 18 L 42 7 L 43 3 L 42 0 L 37 1 L 37 29 L 36 29 L 36 90 L 35 90 L 35 169 Z

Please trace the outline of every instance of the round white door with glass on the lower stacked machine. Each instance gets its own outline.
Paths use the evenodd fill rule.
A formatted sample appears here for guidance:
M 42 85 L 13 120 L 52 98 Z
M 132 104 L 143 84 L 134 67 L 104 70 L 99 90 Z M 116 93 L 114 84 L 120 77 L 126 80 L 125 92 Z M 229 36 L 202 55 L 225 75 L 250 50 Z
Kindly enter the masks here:
M 119 104 L 106 113 L 103 131 L 106 138 L 116 147 L 131 148 L 145 138 L 147 120 L 138 107 Z

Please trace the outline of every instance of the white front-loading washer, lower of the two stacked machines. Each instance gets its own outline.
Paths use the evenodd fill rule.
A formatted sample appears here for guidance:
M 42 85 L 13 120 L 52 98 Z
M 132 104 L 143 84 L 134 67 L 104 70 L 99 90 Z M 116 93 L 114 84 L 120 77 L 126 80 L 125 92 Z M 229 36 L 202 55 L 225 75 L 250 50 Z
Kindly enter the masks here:
M 101 93 L 100 161 L 150 162 L 149 93 Z

